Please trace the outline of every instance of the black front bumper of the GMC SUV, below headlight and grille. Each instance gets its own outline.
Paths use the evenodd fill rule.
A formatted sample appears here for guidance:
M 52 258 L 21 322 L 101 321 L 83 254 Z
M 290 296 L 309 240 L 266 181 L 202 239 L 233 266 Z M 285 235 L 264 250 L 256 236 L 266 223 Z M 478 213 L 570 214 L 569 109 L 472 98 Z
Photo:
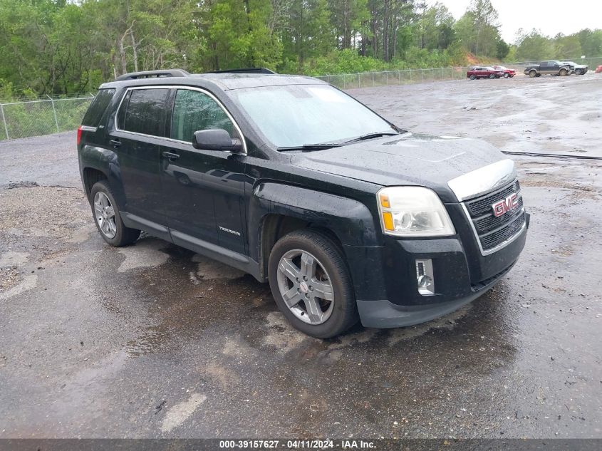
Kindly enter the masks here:
M 487 256 L 479 253 L 468 232 L 445 239 L 393 239 L 384 247 L 346 247 L 363 326 L 411 326 L 474 301 L 516 264 L 528 225 L 526 214 L 527 227 Z M 418 292 L 417 259 L 431 259 L 435 294 L 423 296 Z

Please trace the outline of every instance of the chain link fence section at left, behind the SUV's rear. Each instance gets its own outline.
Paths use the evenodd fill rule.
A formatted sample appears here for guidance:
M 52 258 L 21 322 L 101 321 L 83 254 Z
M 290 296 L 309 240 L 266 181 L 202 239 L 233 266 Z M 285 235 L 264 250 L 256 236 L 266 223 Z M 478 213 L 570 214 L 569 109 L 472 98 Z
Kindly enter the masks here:
M 0 140 L 75 130 L 94 96 L 0 102 Z

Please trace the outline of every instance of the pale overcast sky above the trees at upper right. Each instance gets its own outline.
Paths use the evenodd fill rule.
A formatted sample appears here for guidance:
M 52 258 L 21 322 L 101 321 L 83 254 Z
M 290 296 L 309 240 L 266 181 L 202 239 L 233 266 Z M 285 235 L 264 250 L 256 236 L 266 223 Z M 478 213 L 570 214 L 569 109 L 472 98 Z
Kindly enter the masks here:
M 466 12 L 470 0 L 439 0 L 455 19 Z M 582 28 L 602 28 L 601 0 L 491 0 L 499 14 L 504 41 L 514 43 L 519 28 L 541 30 L 549 36 L 571 34 Z M 436 0 L 429 0 L 435 4 Z

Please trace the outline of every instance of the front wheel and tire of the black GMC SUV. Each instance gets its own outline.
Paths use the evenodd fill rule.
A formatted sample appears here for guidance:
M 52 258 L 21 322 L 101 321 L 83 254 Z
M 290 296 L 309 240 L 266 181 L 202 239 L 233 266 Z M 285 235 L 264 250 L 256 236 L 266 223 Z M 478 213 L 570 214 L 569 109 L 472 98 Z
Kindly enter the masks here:
M 276 305 L 294 328 L 308 336 L 331 338 L 358 322 L 346 260 L 326 235 L 310 229 L 286 234 L 271 250 L 268 276 Z

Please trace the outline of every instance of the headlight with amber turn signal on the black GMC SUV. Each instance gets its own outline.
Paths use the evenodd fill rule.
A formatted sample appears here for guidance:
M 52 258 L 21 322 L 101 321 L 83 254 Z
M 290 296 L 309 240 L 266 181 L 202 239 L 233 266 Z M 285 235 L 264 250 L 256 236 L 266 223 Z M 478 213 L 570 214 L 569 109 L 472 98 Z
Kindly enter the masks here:
M 424 187 L 386 187 L 376 193 L 383 232 L 397 237 L 456 233 L 439 196 Z

